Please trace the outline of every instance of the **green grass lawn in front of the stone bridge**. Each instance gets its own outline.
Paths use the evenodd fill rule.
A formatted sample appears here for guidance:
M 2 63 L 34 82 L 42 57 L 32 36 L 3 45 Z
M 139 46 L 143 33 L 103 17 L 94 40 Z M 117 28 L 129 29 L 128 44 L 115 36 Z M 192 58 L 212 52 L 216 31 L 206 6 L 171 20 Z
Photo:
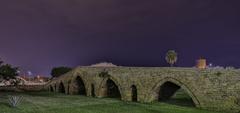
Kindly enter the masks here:
M 173 105 L 179 103 L 179 99 L 166 103 L 141 104 L 48 92 L 18 93 L 24 97 L 23 102 L 18 108 L 11 108 L 7 98 L 13 94 L 0 92 L 0 113 L 217 113 L 189 105 Z

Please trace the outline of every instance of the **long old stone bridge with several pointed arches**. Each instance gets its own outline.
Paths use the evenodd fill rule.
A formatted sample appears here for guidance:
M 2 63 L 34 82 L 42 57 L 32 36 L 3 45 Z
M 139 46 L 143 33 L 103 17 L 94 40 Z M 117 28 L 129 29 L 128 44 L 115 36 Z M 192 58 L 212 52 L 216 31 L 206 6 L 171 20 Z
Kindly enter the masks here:
M 77 67 L 52 80 L 49 91 L 123 101 L 169 99 L 183 89 L 200 109 L 240 113 L 240 70 L 161 67 Z

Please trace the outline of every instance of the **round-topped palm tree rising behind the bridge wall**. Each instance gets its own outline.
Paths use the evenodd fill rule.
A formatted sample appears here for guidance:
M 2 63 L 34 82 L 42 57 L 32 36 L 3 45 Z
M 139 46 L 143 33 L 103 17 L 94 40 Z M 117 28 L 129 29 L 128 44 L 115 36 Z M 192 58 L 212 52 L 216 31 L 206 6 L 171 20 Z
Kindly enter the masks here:
M 166 54 L 166 61 L 171 65 L 171 67 L 177 62 L 177 53 L 175 50 L 169 50 Z

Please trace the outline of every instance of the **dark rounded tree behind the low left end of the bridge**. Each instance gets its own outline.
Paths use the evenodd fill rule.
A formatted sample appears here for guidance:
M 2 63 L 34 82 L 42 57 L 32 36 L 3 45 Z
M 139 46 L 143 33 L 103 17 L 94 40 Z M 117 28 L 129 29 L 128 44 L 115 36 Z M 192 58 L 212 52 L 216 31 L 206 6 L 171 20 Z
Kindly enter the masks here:
M 65 74 L 65 73 L 67 73 L 71 70 L 72 70 L 72 68 L 69 68 L 69 67 L 63 67 L 63 66 L 62 67 L 55 67 L 55 68 L 52 69 L 51 75 L 52 75 L 52 77 L 59 77 L 59 76 Z

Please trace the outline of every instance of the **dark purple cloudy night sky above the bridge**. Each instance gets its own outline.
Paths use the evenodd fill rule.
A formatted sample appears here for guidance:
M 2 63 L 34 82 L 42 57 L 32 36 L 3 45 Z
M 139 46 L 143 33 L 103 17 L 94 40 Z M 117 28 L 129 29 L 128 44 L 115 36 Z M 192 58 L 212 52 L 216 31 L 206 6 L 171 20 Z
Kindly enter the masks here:
M 0 58 L 33 74 L 112 62 L 240 67 L 239 0 L 1 0 Z

